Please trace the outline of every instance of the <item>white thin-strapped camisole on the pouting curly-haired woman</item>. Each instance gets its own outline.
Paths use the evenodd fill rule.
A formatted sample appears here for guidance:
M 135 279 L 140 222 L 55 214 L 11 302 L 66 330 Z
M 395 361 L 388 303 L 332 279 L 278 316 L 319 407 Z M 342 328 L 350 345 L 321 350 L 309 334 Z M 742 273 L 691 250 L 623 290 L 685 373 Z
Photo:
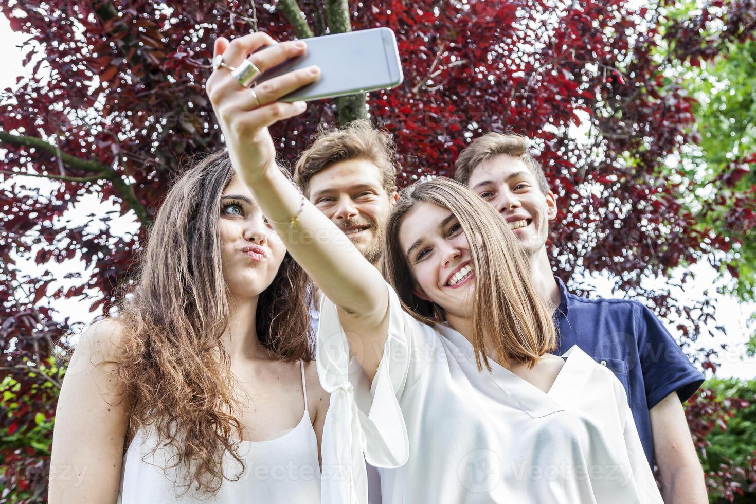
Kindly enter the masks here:
M 123 456 L 118 504 L 169 504 L 169 502 L 265 502 L 265 504 L 313 504 L 321 502 L 321 468 L 318 462 L 318 438 L 310 422 L 307 407 L 305 366 L 302 371 L 302 391 L 305 413 L 294 428 L 283 431 L 268 441 L 241 441 L 239 457 L 245 469 L 237 481 L 223 480 L 215 496 L 194 493 L 177 487 L 172 447 L 156 446 L 153 431 L 141 429 Z M 175 452 L 174 452 L 175 453 Z M 234 479 L 241 466 L 225 454 L 225 475 Z M 182 494 L 182 492 L 184 492 Z

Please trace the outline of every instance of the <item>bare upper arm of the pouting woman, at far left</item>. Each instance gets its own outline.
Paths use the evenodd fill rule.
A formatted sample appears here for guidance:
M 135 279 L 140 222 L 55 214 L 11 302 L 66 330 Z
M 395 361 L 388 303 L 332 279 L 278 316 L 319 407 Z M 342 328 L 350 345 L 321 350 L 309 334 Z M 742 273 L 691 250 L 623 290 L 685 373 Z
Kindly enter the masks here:
M 55 413 L 49 502 L 115 503 L 129 400 L 113 379 L 119 328 L 112 320 L 92 324 L 82 335 Z

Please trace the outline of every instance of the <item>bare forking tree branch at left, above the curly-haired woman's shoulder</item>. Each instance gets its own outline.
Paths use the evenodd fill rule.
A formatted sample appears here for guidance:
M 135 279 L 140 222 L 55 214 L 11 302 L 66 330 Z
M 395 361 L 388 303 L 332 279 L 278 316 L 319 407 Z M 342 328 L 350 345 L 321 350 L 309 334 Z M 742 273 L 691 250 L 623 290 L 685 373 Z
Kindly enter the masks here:
M 23 147 L 34 147 L 39 150 L 43 150 L 46 153 L 49 153 L 51 156 L 57 156 L 58 159 L 62 159 L 64 163 L 69 165 L 73 169 L 82 170 L 82 172 L 91 172 L 91 177 L 82 177 L 79 178 L 79 180 L 76 180 L 76 178 L 68 177 L 65 175 L 36 175 L 39 177 L 45 177 L 45 178 L 54 178 L 57 180 L 64 180 L 69 181 L 73 180 L 76 182 L 83 182 L 83 181 L 89 181 L 91 180 L 97 180 L 98 178 L 105 178 L 110 181 L 111 184 L 113 184 L 113 187 L 116 187 L 116 190 L 119 192 L 119 196 L 123 201 L 129 205 L 129 208 L 131 208 L 135 214 L 137 215 L 137 218 L 139 221 L 144 224 L 145 226 L 149 227 L 152 219 L 150 218 L 150 212 L 147 210 L 147 208 L 144 207 L 144 205 L 141 204 L 141 201 L 139 201 L 138 197 L 134 193 L 134 187 L 131 186 L 131 184 L 127 183 L 125 179 L 119 175 L 112 167 L 108 165 L 104 165 L 101 162 L 97 161 L 91 161 L 88 159 L 81 159 L 76 156 L 71 156 L 70 154 L 60 152 L 58 150 L 58 147 L 49 144 L 47 141 L 42 140 L 42 138 L 36 138 L 36 137 L 29 137 L 26 135 L 11 135 L 7 131 L 0 130 L 0 142 L 5 142 L 6 144 L 11 145 L 19 145 Z M 9 173 L 11 175 L 30 175 L 35 176 L 34 174 L 30 173 L 23 173 L 23 172 L 8 172 L 3 170 L 5 173 Z

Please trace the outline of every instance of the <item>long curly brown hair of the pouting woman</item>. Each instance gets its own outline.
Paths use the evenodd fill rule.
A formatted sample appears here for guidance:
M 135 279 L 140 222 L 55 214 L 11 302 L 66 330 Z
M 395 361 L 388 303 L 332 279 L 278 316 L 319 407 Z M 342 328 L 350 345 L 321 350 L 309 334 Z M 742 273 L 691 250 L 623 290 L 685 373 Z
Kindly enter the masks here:
M 175 181 L 135 276 L 116 301 L 123 334 L 116 378 L 132 401 L 127 440 L 153 428 L 161 447 L 175 449 L 169 468 L 183 480 L 176 486 L 202 493 L 217 492 L 224 479 L 236 481 L 245 469 L 237 454 L 240 397 L 222 343 L 229 306 L 218 221 L 233 177 L 221 150 Z M 312 360 L 310 303 L 308 277 L 287 252 L 256 312 L 258 338 L 278 359 Z M 224 473 L 227 453 L 241 465 L 234 477 Z

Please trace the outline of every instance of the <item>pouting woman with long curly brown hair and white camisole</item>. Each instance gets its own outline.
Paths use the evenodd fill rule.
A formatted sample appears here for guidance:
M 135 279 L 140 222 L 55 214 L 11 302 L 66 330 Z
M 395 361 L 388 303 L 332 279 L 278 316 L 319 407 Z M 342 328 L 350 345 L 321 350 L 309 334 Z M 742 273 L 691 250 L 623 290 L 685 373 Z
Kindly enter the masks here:
M 184 172 L 73 354 L 49 501 L 319 502 L 309 292 L 225 151 Z

